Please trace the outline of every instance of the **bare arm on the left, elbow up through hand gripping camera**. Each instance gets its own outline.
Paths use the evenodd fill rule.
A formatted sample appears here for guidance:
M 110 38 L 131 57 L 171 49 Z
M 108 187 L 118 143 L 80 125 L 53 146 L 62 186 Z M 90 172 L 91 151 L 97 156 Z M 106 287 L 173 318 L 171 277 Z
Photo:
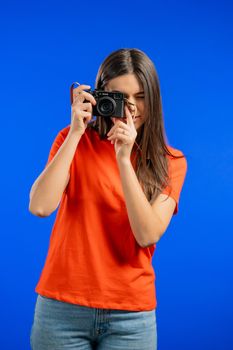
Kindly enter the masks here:
M 58 207 L 69 182 L 69 169 L 78 143 L 92 118 L 94 97 L 79 85 L 72 91 L 71 125 L 69 133 L 54 158 L 34 182 L 30 191 L 29 211 L 37 216 L 49 216 Z M 90 101 L 90 102 L 85 102 Z

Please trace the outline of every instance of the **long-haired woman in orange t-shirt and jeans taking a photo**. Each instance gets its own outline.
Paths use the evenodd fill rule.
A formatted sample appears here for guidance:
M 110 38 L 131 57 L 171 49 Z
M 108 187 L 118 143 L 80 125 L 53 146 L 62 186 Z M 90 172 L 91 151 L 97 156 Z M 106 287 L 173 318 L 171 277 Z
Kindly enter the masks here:
M 71 123 L 30 192 L 34 215 L 60 204 L 36 286 L 34 350 L 157 349 L 152 256 L 178 211 L 187 162 L 165 140 L 144 52 L 111 53 L 95 87 L 124 93 L 124 117 L 92 120 L 90 86 L 74 89 Z

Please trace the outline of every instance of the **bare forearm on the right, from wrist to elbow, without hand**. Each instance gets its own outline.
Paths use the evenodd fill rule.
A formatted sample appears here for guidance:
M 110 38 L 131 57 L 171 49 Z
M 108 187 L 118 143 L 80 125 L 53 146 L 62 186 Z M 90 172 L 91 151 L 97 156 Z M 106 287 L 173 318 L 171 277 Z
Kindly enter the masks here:
M 157 237 L 157 240 L 159 240 L 161 222 L 159 217 L 156 217 L 153 212 L 130 160 L 118 160 L 117 162 L 129 222 L 136 241 L 140 246 L 145 247 L 153 243 L 151 237 Z

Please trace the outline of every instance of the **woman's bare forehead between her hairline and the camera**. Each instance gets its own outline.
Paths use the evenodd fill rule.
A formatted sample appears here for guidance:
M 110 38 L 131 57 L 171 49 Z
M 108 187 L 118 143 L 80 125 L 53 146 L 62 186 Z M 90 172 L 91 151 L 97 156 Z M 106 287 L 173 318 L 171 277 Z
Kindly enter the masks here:
M 143 87 L 135 74 L 125 74 L 109 80 L 106 90 L 118 90 L 125 94 L 136 94 L 143 91 Z

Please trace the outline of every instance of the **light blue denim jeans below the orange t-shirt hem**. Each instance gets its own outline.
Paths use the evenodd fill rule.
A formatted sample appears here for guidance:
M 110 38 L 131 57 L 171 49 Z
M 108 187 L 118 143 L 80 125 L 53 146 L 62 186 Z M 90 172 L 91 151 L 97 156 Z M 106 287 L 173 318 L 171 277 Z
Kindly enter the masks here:
M 156 312 L 96 309 L 38 295 L 33 350 L 156 350 Z

